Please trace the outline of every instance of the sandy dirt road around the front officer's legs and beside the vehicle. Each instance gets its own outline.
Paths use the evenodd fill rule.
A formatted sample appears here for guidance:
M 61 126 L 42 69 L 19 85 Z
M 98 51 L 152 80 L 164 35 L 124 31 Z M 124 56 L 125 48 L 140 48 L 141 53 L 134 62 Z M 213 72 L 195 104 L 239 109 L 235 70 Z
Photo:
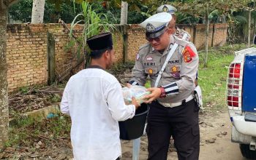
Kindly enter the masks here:
M 231 143 L 232 124 L 225 110 L 223 113 L 200 114 L 200 160 L 245 160 L 239 145 Z M 175 148 L 170 148 L 167 160 L 177 160 Z M 132 159 L 132 142 L 122 141 L 122 160 Z M 141 137 L 140 160 L 147 158 L 146 136 Z

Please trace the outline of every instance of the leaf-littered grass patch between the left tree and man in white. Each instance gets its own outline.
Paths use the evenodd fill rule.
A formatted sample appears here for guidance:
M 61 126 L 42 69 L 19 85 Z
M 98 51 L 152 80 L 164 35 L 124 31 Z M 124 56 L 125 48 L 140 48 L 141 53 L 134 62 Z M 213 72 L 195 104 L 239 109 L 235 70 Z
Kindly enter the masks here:
M 31 118 L 16 117 L 16 123 L 9 130 L 9 140 L 6 147 L 34 148 L 34 143 L 42 141 L 46 145 L 61 139 L 69 139 L 71 120 L 67 116 L 56 116 L 51 119 L 35 121 Z M 34 148 L 35 149 L 35 148 Z

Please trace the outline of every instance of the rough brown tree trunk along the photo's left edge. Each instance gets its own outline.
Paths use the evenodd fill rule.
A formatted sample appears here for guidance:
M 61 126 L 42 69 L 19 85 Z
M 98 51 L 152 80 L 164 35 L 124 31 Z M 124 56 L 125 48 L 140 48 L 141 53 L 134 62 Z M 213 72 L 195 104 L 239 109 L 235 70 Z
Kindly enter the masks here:
M 8 140 L 9 125 L 6 60 L 7 6 L 4 1 L 0 0 L 0 151 Z

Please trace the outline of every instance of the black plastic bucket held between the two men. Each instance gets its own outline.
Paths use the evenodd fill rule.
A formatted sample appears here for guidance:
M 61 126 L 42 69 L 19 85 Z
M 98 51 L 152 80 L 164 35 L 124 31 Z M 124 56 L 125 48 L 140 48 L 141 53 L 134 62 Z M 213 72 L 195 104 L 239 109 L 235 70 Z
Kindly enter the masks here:
M 148 105 L 142 103 L 132 119 L 118 121 L 121 140 L 135 140 L 143 135 L 148 109 Z

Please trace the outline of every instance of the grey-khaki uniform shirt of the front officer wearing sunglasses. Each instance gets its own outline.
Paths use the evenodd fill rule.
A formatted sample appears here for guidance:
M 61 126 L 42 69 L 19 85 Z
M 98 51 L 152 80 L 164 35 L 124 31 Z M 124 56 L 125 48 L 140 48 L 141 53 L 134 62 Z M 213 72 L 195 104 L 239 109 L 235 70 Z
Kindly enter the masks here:
M 178 39 L 176 36 L 170 36 L 170 47 L 165 49 L 162 54 L 151 47 L 149 43 L 143 45 L 140 47 L 135 66 L 132 69 L 133 78 L 129 81 L 132 85 L 143 86 L 147 77 L 150 76 L 151 87 L 154 87 L 158 73 L 174 43 L 179 45 L 168 61 L 158 84 L 158 87 L 165 88 L 167 95 L 165 98 L 157 99 L 162 103 L 178 103 L 192 95 L 198 68 L 198 55 L 194 44 Z M 183 54 L 185 47 L 190 47 L 194 55 L 189 57 L 189 55 Z

